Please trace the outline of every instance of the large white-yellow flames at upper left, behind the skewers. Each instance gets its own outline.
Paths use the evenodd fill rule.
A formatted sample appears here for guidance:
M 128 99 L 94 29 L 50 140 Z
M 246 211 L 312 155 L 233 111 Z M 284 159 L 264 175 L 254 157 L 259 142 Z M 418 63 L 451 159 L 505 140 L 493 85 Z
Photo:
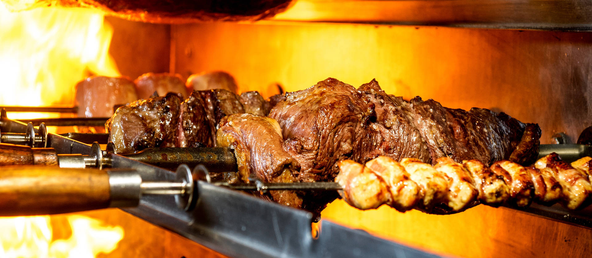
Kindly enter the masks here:
M 96 11 L 11 13 L 0 3 L 0 24 L 0 105 L 72 106 L 79 80 L 120 75 L 108 54 L 112 28 Z

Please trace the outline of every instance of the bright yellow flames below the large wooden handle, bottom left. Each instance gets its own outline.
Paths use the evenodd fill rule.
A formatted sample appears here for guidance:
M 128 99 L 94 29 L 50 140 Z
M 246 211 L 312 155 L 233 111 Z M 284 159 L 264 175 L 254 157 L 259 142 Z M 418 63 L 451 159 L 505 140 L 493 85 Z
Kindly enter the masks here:
M 95 257 L 111 253 L 123 238 L 119 226 L 105 227 L 82 215 L 69 215 L 67 220 L 72 236 L 52 241 L 49 216 L 0 218 L 0 257 Z

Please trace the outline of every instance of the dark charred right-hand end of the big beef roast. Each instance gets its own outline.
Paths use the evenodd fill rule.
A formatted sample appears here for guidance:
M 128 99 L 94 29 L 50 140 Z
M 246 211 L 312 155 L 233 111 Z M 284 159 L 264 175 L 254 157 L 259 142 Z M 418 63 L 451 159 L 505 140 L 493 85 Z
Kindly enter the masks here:
M 412 121 L 429 146 L 432 160 L 477 159 L 490 165 L 496 160 L 510 159 L 520 147 L 511 160 L 523 163 L 536 158 L 538 153 L 540 128 L 536 124 L 529 124 L 528 134 L 523 137 L 522 122 L 488 109 L 450 109 L 419 97 L 411 100 L 411 109 Z

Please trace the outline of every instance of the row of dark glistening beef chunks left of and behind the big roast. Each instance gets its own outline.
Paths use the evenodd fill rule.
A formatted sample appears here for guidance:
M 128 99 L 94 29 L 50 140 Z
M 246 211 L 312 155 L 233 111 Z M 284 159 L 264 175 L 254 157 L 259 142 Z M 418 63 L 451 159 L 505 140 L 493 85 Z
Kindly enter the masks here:
M 174 104 L 170 102 L 173 95 L 178 100 Z M 266 115 L 269 107 L 258 92 L 239 96 L 213 89 L 193 91 L 185 101 L 181 99 L 179 94 L 169 93 L 117 109 L 105 124 L 115 151 L 126 154 L 149 147 L 215 147 L 216 130 L 223 117 L 244 113 L 245 109 Z

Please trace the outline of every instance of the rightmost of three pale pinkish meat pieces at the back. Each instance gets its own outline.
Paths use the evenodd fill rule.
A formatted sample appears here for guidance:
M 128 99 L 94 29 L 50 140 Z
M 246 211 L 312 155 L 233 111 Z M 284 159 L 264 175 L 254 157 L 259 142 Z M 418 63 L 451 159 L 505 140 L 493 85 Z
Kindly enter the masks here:
M 200 75 L 191 75 L 187 79 L 186 86 L 191 91 L 207 91 L 211 89 L 226 89 L 238 93 L 238 87 L 234 77 L 227 72 L 209 72 Z

